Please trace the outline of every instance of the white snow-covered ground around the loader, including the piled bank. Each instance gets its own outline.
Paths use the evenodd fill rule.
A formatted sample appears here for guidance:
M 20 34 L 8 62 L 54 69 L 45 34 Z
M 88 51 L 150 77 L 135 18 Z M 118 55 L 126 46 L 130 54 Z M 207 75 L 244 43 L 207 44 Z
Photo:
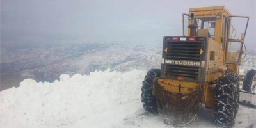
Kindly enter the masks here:
M 0 127 L 172 127 L 161 115 L 144 111 L 144 70 L 63 74 L 54 83 L 25 79 L 0 92 Z M 239 106 L 236 127 L 256 127 L 256 109 Z M 198 120 L 185 127 L 217 127 L 204 106 Z

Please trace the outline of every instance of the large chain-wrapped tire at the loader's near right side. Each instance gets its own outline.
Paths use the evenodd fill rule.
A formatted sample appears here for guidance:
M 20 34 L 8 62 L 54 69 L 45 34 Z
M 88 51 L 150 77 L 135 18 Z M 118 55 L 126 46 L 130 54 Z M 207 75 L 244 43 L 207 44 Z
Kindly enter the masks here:
M 218 79 L 216 84 L 215 122 L 221 127 L 233 127 L 239 108 L 239 78 L 230 72 Z

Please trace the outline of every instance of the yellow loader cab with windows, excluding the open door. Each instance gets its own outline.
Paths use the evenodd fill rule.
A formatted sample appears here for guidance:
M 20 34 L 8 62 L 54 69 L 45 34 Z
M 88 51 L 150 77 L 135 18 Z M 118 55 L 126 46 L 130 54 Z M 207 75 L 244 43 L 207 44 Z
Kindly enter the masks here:
M 223 16 L 231 15 L 224 6 L 213 6 L 205 8 L 190 8 L 189 13 L 183 13 L 183 36 L 207 36 L 216 42 L 221 42 L 226 28 L 223 26 Z M 227 22 L 227 18 L 226 21 Z M 191 28 L 193 24 L 196 29 Z M 224 28 L 224 29 L 222 29 Z M 222 35 L 223 34 L 223 35 Z

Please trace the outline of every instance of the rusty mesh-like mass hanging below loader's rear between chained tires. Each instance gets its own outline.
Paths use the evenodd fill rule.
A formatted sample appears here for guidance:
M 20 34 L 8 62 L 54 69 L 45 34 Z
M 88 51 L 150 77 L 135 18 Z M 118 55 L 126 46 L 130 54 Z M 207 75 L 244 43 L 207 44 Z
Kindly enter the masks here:
M 189 124 L 196 119 L 202 99 L 202 89 L 195 92 L 182 94 L 164 90 L 160 84 L 155 84 L 154 95 L 157 97 L 157 107 L 164 122 L 174 126 Z

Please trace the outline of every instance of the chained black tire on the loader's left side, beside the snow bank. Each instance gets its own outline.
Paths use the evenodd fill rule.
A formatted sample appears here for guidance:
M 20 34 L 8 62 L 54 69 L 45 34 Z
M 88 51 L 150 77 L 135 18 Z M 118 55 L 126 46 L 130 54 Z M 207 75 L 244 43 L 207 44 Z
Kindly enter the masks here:
M 159 69 L 151 69 L 147 72 L 141 88 L 141 102 L 145 111 L 149 113 L 158 113 L 156 97 L 152 94 L 153 79 L 160 76 Z

